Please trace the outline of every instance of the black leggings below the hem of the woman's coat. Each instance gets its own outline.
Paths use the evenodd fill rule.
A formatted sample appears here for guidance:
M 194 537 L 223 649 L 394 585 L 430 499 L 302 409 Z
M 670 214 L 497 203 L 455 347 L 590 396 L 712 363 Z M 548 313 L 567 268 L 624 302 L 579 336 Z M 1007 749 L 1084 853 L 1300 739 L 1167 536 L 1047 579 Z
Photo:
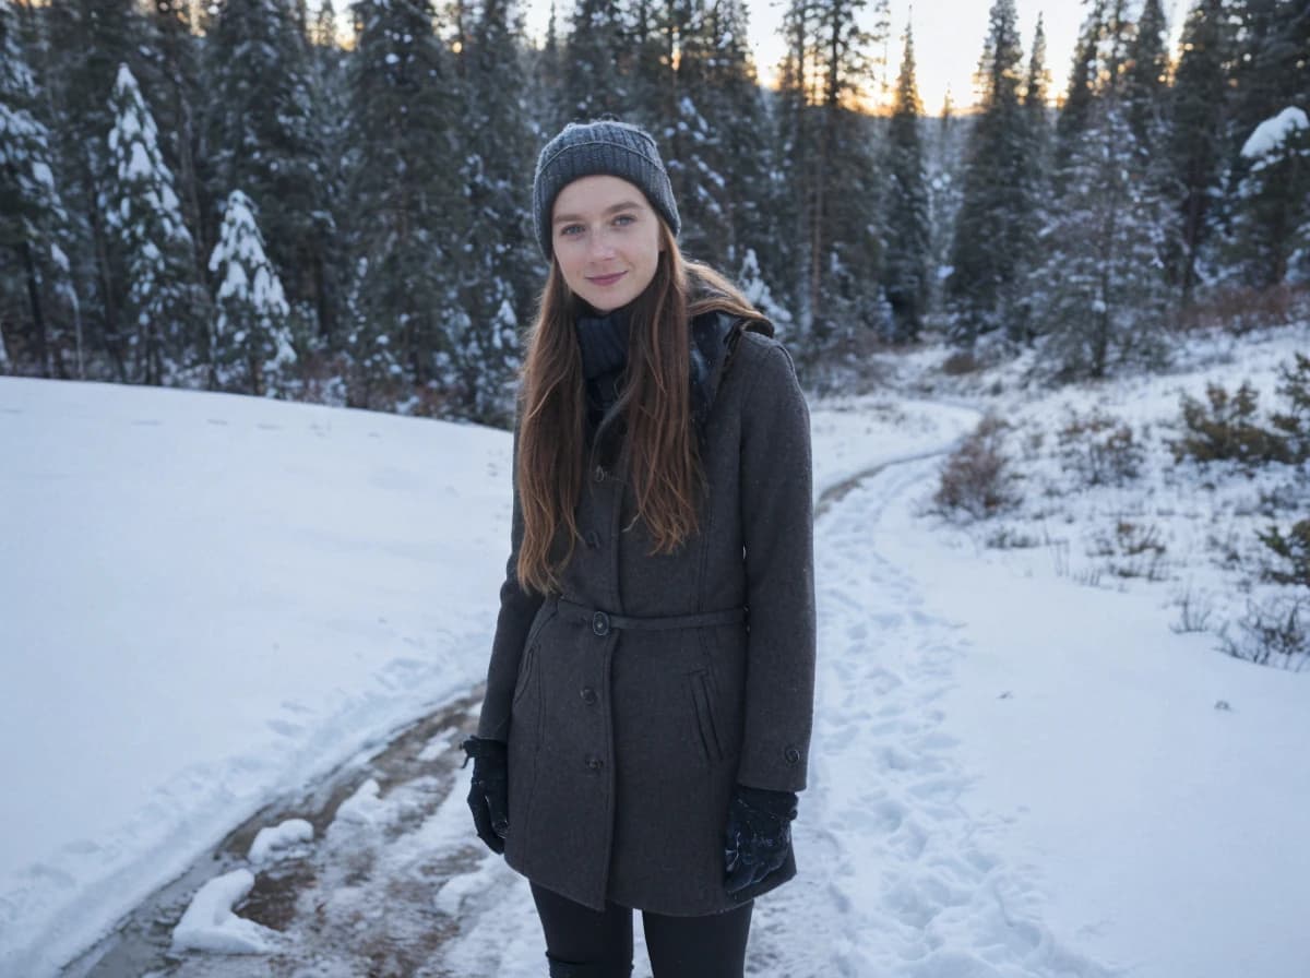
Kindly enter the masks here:
M 633 911 L 608 903 L 597 911 L 533 884 L 552 978 L 627 978 L 633 970 Z M 711 916 L 642 911 L 654 978 L 741 978 L 751 932 L 747 901 Z

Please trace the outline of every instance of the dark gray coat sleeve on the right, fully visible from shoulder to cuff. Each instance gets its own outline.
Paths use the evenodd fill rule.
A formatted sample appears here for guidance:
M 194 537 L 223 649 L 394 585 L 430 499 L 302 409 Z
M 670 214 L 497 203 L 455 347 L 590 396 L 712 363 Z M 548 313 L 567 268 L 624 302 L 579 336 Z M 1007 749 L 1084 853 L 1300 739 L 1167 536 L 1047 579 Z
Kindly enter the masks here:
M 752 788 L 806 786 L 816 647 L 812 483 L 810 408 L 791 355 L 774 346 L 741 420 L 748 635 L 738 780 Z

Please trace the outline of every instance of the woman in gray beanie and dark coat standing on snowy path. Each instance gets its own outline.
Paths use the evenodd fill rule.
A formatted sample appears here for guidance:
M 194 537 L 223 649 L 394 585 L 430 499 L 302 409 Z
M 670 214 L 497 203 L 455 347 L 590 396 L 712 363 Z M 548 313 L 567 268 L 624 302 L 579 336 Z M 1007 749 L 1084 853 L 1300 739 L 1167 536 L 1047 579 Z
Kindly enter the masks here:
M 815 602 L 810 415 L 773 327 L 684 262 L 654 140 L 567 126 L 474 759 L 478 835 L 532 882 L 552 978 L 740 975 L 795 875 Z

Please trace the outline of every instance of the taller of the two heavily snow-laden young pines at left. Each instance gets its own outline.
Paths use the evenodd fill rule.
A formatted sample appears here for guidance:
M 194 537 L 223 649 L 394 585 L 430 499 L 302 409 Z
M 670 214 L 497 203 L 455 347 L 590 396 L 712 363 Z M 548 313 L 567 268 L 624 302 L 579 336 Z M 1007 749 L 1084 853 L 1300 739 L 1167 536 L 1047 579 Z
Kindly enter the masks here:
M 127 270 L 123 319 L 139 382 L 174 381 L 204 357 L 206 325 L 191 234 L 155 119 L 131 69 L 119 65 L 110 96 L 105 221 Z

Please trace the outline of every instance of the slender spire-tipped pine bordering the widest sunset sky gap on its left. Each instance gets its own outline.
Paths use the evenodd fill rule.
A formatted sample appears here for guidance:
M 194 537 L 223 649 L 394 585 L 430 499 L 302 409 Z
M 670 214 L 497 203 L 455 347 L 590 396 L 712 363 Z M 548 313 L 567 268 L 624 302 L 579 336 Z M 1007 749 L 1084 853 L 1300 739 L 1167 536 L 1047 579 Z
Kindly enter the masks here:
M 884 206 L 887 262 L 883 281 L 892 308 L 892 339 L 897 343 L 918 339 L 929 293 L 931 241 L 924 152 L 918 136 L 922 114 L 918 85 L 914 81 L 914 35 L 907 27 L 887 136 Z

